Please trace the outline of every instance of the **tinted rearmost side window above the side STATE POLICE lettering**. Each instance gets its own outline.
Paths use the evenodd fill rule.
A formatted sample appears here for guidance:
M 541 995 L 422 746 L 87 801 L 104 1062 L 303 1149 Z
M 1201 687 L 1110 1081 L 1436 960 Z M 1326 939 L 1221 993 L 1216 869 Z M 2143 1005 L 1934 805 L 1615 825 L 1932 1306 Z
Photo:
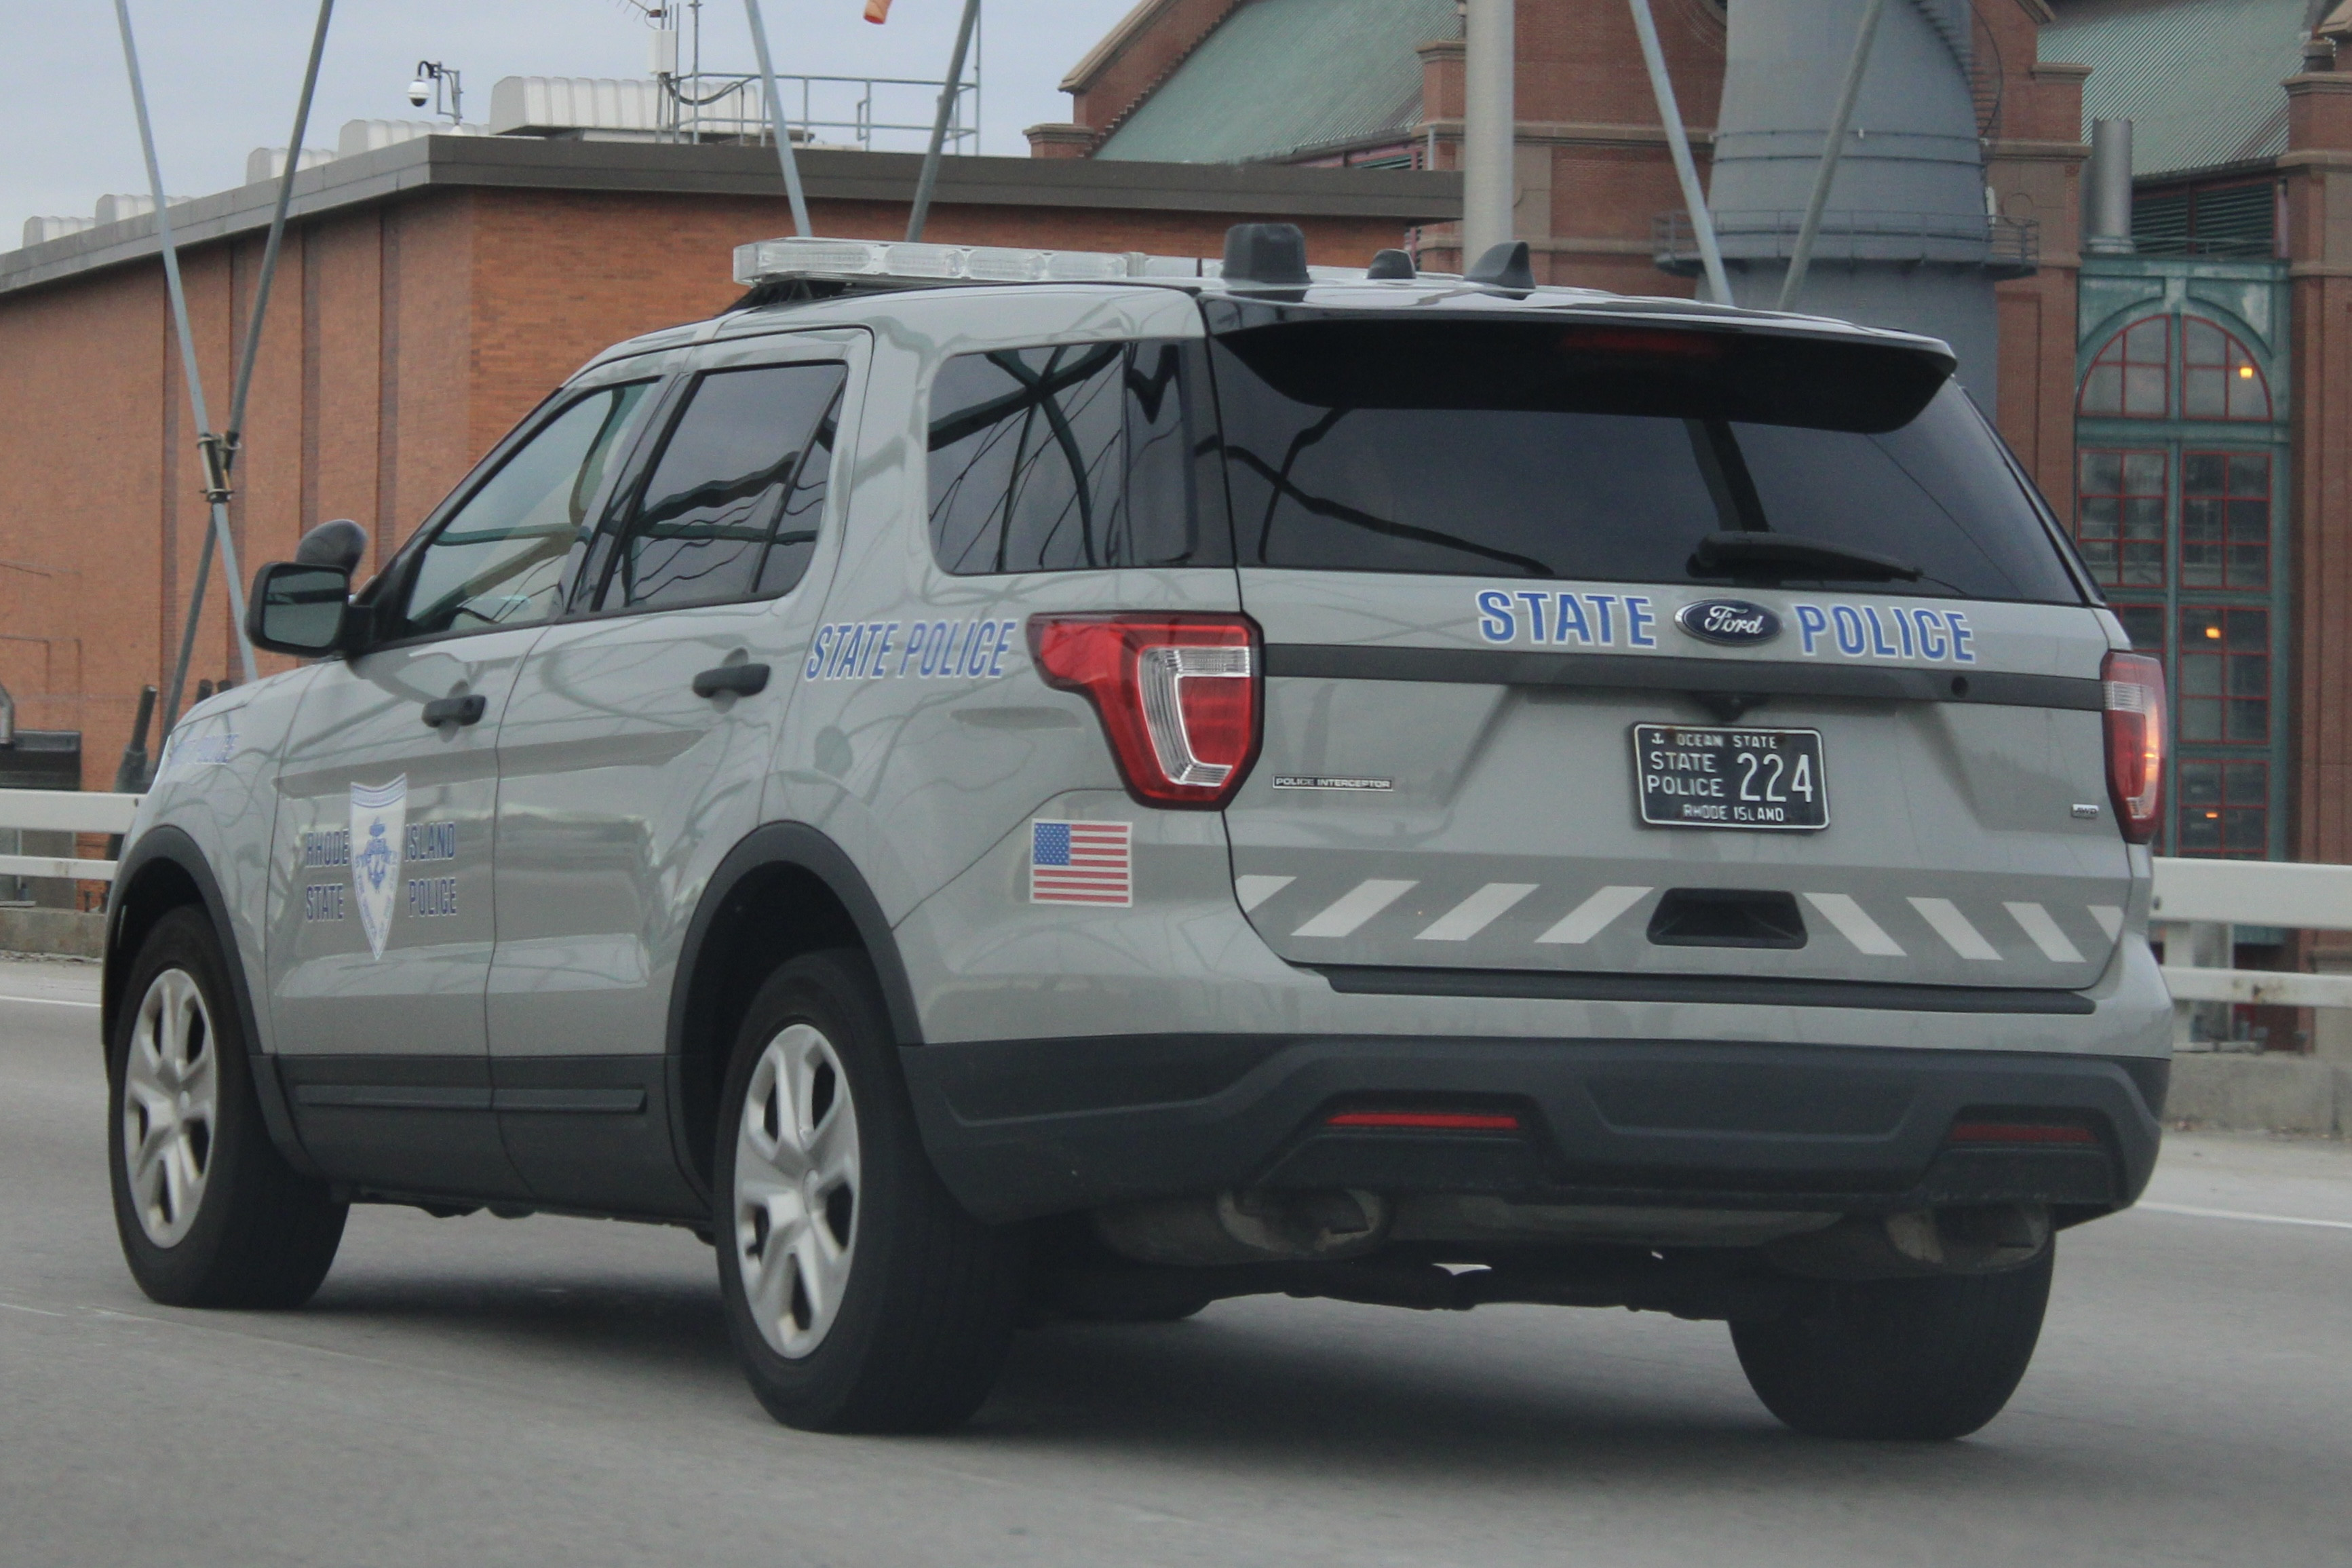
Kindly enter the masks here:
M 946 571 L 1230 562 L 1204 541 L 1188 435 L 1197 346 L 957 355 L 931 383 L 931 550 Z

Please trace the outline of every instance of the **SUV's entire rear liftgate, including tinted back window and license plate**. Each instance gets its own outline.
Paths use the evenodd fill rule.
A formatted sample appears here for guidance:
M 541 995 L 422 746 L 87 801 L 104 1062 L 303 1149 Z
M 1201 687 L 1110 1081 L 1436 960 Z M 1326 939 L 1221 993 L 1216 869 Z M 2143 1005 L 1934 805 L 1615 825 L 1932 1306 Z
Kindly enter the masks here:
M 1357 317 L 1216 367 L 1268 644 L 1235 893 L 1282 957 L 2105 969 L 2105 618 L 1926 355 Z

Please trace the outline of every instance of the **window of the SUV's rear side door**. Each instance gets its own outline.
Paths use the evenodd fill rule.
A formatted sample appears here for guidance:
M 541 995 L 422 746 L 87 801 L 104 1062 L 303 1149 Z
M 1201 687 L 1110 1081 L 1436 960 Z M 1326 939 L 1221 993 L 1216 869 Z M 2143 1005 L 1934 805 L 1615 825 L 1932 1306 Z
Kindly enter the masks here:
M 722 604 L 790 590 L 826 510 L 840 364 L 696 378 L 635 494 L 595 609 Z

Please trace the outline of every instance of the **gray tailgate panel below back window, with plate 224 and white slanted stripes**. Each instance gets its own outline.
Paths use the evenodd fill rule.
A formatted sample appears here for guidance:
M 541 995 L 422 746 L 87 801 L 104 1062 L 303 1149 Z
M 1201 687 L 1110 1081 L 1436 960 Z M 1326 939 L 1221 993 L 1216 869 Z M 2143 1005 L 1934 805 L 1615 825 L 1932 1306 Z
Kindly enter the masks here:
M 2107 806 L 2098 616 L 1745 590 L 1792 646 L 1717 649 L 1675 616 L 1726 595 L 1545 583 L 1555 625 L 1555 595 L 1595 632 L 1616 623 L 1613 644 L 1559 651 L 1524 637 L 1517 597 L 1522 637 L 1482 639 L 1489 590 L 1242 574 L 1268 644 L 1265 750 L 1225 820 L 1235 891 L 1282 957 L 2018 987 L 2105 969 L 2131 865 Z M 1830 628 L 1811 658 L 1790 658 L 1799 616 Z M 1917 651 L 1922 621 L 1950 649 L 1950 616 L 1973 663 Z M 1860 625 L 1860 656 L 1839 654 L 1839 623 Z M 1691 745 L 1637 745 L 1651 724 Z M 1811 778 L 1790 778 L 1802 741 L 1773 731 L 1818 733 Z M 1649 766 L 1661 750 L 1679 755 Z M 1771 750 L 1790 757 L 1778 776 Z M 1710 755 L 1729 766 L 1693 766 Z M 1698 820 L 1729 816 L 1745 792 L 1771 818 L 1773 792 L 1790 813 L 1792 785 L 1811 785 L 1828 825 L 1651 825 L 1644 776 L 1651 816 L 1677 797 Z M 1780 933 L 1773 900 L 1724 891 L 1788 893 L 1797 931 Z

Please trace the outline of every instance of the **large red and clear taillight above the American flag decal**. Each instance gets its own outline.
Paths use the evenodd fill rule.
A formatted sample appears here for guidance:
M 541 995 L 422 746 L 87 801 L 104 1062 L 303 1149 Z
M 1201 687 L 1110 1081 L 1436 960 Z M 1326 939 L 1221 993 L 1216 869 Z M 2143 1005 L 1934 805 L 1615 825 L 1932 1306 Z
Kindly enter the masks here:
M 1049 686 L 1103 717 L 1127 792 L 1223 806 L 1258 757 L 1258 625 L 1249 616 L 1030 616 Z

